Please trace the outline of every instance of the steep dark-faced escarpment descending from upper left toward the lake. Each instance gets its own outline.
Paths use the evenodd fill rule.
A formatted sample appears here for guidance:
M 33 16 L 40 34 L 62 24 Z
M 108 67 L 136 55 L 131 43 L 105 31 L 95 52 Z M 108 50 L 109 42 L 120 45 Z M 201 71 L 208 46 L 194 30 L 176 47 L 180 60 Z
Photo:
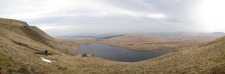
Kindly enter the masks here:
M 74 55 L 78 51 L 79 44 L 75 41 L 55 39 L 47 35 L 39 28 L 29 26 L 26 22 L 3 18 L 0 18 L 0 22 L 3 29 L 7 29 L 22 36 L 26 36 L 61 52 Z

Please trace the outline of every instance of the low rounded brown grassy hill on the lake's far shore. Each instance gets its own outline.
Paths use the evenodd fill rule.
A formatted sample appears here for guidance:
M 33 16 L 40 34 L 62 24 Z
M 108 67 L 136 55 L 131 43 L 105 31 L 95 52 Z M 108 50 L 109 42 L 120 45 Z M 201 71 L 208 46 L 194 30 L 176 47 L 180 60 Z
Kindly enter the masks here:
M 217 36 L 188 35 L 188 36 L 151 36 L 147 34 L 131 34 L 111 39 L 100 39 L 98 43 L 123 47 L 137 51 L 173 50 L 193 47 L 201 43 L 209 42 Z

